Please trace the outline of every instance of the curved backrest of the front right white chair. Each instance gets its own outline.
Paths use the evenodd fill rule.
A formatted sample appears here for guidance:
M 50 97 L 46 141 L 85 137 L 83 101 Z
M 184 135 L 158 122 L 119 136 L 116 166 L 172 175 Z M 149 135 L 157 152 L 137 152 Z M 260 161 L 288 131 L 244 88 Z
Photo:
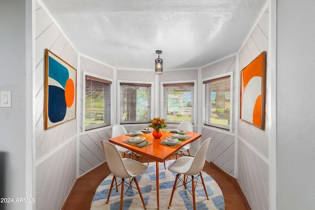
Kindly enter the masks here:
M 187 173 L 185 173 L 185 175 L 193 176 L 201 172 L 201 170 L 203 169 L 205 165 L 207 150 L 208 150 L 210 141 L 211 141 L 211 138 L 207 139 L 199 147 L 196 155 L 193 158 L 192 164 L 189 170 L 187 171 Z

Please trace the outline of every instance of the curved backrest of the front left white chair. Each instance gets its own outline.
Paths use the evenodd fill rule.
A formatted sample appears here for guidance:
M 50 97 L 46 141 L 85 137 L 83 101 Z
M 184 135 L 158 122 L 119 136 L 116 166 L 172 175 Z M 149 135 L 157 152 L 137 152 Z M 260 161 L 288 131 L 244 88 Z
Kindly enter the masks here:
M 123 162 L 123 158 L 120 155 L 119 151 L 110 142 L 100 140 L 102 143 L 103 151 L 107 161 L 109 170 L 119 178 L 129 178 L 131 177 L 126 170 L 126 166 Z

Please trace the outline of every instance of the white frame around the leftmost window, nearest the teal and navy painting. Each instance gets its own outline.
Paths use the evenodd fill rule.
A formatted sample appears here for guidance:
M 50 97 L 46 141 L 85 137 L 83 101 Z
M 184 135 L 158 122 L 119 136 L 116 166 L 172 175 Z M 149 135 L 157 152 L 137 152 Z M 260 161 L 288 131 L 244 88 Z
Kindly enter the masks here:
M 85 87 L 86 87 L 86 82 L 85 82 L 85 78 L 86 78 L 86 75 L 88 76 L 92 76 L 92 77 L 96 77 L 96 78 L 99 78 L 99 79 L 102 79 L 102 80 L 108 80 L 108 81 L 111 81 L 112 84 L 110 86 L 110 94 L 111 94 L 111 97 L 110 97 L 110 104 L 111 104 L 111 109 L 110 109 L 110 124 L 113 124 L 113 80 L 112 79 L 109 79 L 107 77 L 102 77 L 102 76 L 99 76 L 97 74 L 93 74 L 93 73 L 90 73 L 90 72 L 87 72 L 87 71 L 83 71 L 83 84 L 82 84 L 82 131 L 83 132 L 88 132 L 88 131 L 91 131 L 91 130 L 88 130 L 86 131 L 85 130 Z M 101 130 L 101 129 L 104 129 L 105 127 L 109 127 L 111 125 L 107 125 L 107 126 L 104 126 L 104 127 L 99 127 L 99 128 L 95 128 L 95 129 L 92 129 L 92 130 Z

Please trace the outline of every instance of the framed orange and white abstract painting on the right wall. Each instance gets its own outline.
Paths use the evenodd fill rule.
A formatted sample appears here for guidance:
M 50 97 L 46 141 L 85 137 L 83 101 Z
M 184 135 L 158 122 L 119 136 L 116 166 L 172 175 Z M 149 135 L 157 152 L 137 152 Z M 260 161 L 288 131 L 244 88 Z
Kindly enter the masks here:
M 241 120 L 265 129 L 266 51 L 241 70 Z

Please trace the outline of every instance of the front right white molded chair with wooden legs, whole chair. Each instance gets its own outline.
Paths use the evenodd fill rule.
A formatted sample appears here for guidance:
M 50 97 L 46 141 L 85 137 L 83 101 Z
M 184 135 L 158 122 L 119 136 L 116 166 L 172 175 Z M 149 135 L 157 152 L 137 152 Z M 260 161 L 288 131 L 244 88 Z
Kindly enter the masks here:
M 190 157 L 190 156 L 180 157 L 177 160 L 175 160 L 168 167 L 168 170 L 170 170 L 171 172 L 177 173 L 176 178 L 175 178 L 175 182 L 174 182 L 174 186 L 173 186 L 173 190 L 172 190 L 171 199 L 169 201 L 168 209 L 170 208 L 171 203 L 172 203 L 174 191 L 175 191 L 175 188 L 177 186 L 177 180 L 180 180 L 178 183 L 182 182 L 186 188 L 186 184 L 187 184 L 186 176 L 191 176 L 193 209 L 196 210 L 195 182 L 197 182 L 198 176 L 200 176 L 200 178 L 201 178 L 201 183 L 203 185 L 203 189 L 205 190 L 205 194 L 207 196 L 207 199 L 209 200 L 206 186 L 205 186 L 205 183 L 203 181 L 203 177 L 201 175 L 201 170 L 203 169 L 203 167 L 205 165 L 206 154 L 207 154 L 207 150 L 208 150 L 210 141 L 211 141 L 211 138 L 207 139 L 204 143 L 202 143 L 202 145 L 200 146 L 200 148 L 198 149 L 198 151 L 194 157 Z M 181 178 L 179 178 L 179 176 L 181 174 L 184 175 L 183 180 Z M 197 179 L 195 179 L 195 177 L 194 177 L 195 175 L 197 175 L 197 177 L 196 177 Z

